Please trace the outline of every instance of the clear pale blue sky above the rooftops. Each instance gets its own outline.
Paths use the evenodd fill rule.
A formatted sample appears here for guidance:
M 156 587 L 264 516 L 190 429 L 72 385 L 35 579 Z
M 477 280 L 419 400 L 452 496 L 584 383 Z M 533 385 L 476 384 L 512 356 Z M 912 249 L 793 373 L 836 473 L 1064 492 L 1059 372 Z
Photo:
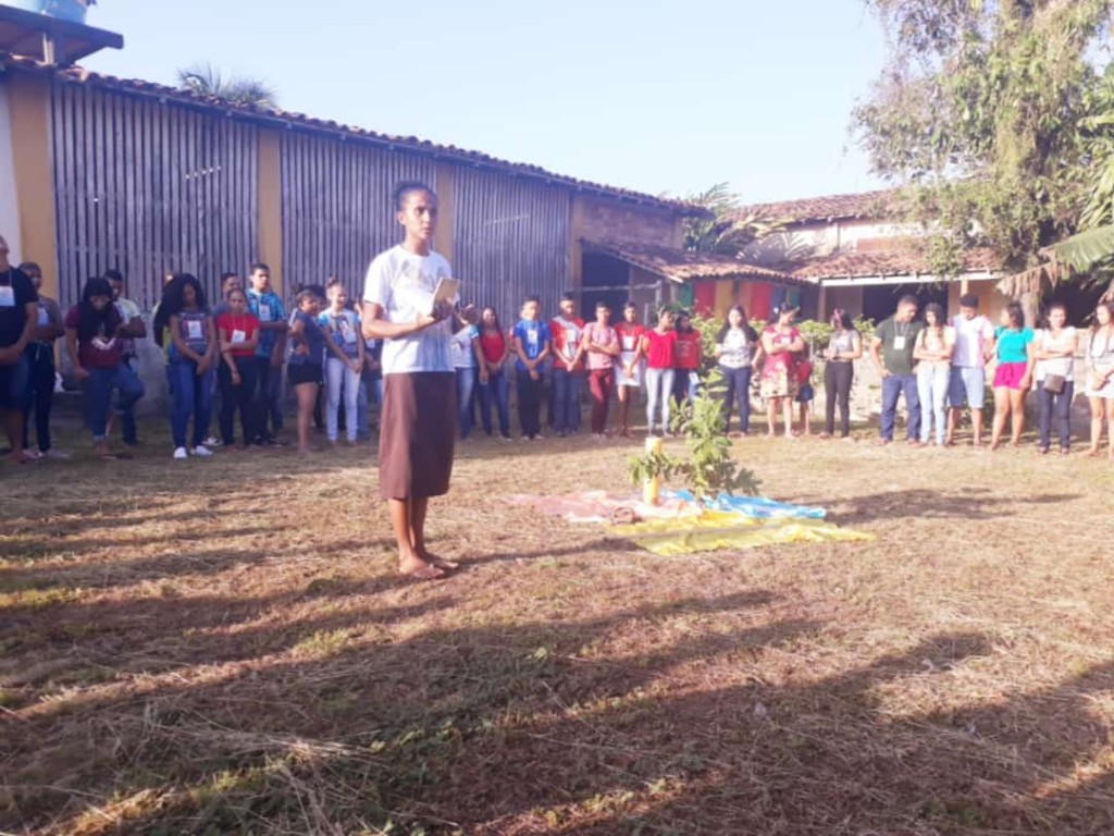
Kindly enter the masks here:
M 284 109 L 642 192 L 721 181 L 747 202 L 878 187 L 848 133 L 882 61 L 862 0 L 99 0 L 172 84 L 208 61 Z

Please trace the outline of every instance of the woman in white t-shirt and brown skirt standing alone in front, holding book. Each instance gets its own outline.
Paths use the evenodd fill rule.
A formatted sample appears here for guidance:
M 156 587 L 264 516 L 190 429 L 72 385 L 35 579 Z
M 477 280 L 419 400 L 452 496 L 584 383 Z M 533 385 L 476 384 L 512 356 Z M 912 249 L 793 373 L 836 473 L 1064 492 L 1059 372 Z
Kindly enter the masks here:
M 363 336 L 383 340 L 379 492 L 394 526 L 399 571 L 429 580 L 456 568 L 426 548 L 429 499 L 448 493 L 452 474 L 453 304 L 433 304 L 438 282 L 452 271 L 432 250 L 433 189 L 403 183 L 394 191 L 394 208 L 405 237 L 368 268 Z

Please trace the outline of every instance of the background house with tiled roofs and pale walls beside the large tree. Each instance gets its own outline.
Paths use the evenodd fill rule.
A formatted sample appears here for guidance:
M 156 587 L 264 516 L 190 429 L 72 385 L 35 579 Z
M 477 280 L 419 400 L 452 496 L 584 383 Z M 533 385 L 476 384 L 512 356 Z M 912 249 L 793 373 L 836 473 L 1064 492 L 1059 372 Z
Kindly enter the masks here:
M 906 294 L 948 310 L 957 308 L 964 293 L 978 295 L 987 310 L 1006 301 L 997 289 L 1006 271 L 988 249 L 966 251 L 958 274 L 938 275 L 925 251 L 924 226 L 902 218 L 893 189 L 754 204 L 741 207 L 739 215 L 781 223 L 779 232 L 753 244 L 743 257 L 811 284 L 815 292 L 805 294 L 809 317 L 827 319 L 842 308 L 877 321 Z M 762 297 L 750 301 L 749 310 L 759 317 L 771 305 Z

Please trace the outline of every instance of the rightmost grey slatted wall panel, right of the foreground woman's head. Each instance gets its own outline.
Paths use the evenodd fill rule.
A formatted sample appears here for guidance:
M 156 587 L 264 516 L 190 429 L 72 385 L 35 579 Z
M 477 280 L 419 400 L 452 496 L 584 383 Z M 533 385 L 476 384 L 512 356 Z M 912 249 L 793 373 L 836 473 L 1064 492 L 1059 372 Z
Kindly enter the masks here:
M 491 304 L 512 323 L 529 294 L 543 318 L 568 290 L 573 193 L 502 174 L 457 169 L 453 273 L 465 302 Z

